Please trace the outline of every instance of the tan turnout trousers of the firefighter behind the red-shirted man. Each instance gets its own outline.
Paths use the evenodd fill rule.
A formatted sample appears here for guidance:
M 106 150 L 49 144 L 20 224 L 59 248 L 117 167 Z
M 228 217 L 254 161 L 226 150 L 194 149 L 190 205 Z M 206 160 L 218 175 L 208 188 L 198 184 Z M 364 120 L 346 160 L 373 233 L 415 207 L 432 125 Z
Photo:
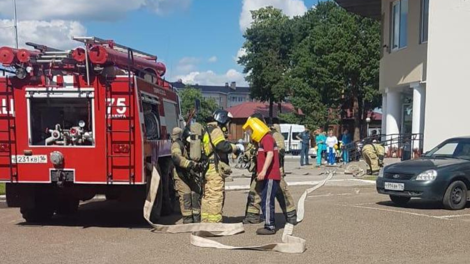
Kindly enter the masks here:
M 261 193 L 263 191 L 263 182 L 256 180 L 251 181 L 250 192 L 248 193 L 248 199 L 246 204 L 246 216 L 259 216 L 261 214 Z M 282 213 L 286 217 L 286 220 L 296 219 L 297 211 L 295 208 L 294 198 L 290 194 L 284 177 L 279 182 L 279 188 L 277 188 L 276 199 L 279 202 Z

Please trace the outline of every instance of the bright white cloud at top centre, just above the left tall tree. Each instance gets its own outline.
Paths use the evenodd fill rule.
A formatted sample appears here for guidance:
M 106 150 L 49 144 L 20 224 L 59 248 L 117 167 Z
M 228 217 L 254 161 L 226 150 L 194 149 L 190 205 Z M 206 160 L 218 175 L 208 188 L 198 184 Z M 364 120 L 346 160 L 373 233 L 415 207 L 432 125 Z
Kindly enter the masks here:
M 251 10 L 258 10 L 267 6 L 281 9 L 287 16 L 293 17 L 307 12 L 303 0 L 243 0 L 242 13 L 240 14 L 240 29 L 245 31 L 253 21 Z

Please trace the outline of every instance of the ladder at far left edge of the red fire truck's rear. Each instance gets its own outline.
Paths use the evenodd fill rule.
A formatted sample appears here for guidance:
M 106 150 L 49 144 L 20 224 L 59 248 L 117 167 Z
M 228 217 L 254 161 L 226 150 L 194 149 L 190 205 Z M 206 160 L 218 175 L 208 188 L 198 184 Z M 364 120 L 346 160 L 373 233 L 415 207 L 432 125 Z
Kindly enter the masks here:
M 9 85 L 8 77 L 3 79 L 5 82 L 5 91 L 0 91 L 0 95 L 6 96 L 5 108 L 3 112 L 6 113 L 5 116 L 0 116 L 1 122 L 4 124 L 6 121 L 6 126 L 1 126 L 0 135 L 8 134 L 7 140 L 0 140 L 0 144 L 7 146 L 7 151 L 0 152 L 0 158 L 2 160 L 8 159 L 6 164 L 0 163 L 0 167 L 7 167 L 10 171 L 10 181 L 18 180 L 18 163 L 16 159 L 13 159 L 12 156 L 16 156 L 16 118 L 14 105 L 11 105 L 11 99 L 15 101 L 15 91 L 12 85 Z M 10 113 L 11 110 L 11 113 Z M 5 137 L 0 136 L 1 139 Z M 5 154 L 8 153 L 8 154 Z

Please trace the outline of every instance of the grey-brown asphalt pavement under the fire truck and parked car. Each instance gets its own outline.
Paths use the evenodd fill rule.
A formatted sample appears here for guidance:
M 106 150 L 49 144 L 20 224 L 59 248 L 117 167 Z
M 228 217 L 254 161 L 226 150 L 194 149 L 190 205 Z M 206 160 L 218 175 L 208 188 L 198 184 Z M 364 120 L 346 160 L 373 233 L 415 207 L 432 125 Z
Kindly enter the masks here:
M 296 177 L 326 177 L 310 172 Z M 335 175 L 308 195 L 305 220 L 294 229 L 307 241 L 303 254 L 197 248 L 188 234 L 151 232 L 132 204 L 96 199 L 82 203 L 74 217 L 43 225 L 25 223 L 19 209 L 0 202 L 0 263 L 470 263 L 470 206 L 448 211 L 412 200 L 399 208 L 374 184 L 347 178 Z M 298 199 L 306 187 L 290 189 Z M 246 196 L 246 190 L 227 192 L 225 222 L 242 220 Z M 276 211 L 274 236 L 258 236 L 259 226 L 245 225 L 245 233 L 214 240 L 235 246 L 280 242 L 284 220 L 277 204 Z M 181 220 L 173 215 L 161 222 Z

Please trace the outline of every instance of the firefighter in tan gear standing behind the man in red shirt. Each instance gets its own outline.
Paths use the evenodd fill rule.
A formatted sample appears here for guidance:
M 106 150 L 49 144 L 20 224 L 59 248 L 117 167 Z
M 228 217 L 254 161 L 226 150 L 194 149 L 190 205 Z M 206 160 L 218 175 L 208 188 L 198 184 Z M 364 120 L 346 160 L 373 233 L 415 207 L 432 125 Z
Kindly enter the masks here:
M 260 114 L 253 114 L 251 117 L 256 117 L 259 120 L 265 122 L 264 118 Z M 266 123 L 266 122 L 265 122 Z M 294 198 L 292 194 L 290 194 L 289 188 L 287 187 L 287 183 L 284 180 L 284 155 L 285 155 L 285 144 L 284 144 L 284 137 L 281 134 L 281 126 L 279 124 L 274 124 L 272 126 L 272 135 L 274 140 L 276 140 L 277 148 L 279 149 L 279 165 L 281 167 L 281 181 L 279 183 L 279 188 L 276 192 L 276 199 L 281 206 L 282 213 L 286 218 L 286 222 L 296 225 L 297 224 L 297 210 L 295 207 Z M 248 153 L 251 163 L 256 161 L 256 155 L 258 146 L 255 142 L 251 142 L 248 147 Z M 254 165 L 254 167 L 253 167 Z M 251 177 L 251 185 L 250 185 L 250 192 L 248 193 L 247 205 L 246 205 L 246 212 L 245 218 L 243 219 L 244 224 L 258 224 L 263 222 L 261 217 L 261 191 L 262 186 L 261 183 L 256 181 L 256 169 L 252 170 L 252 168 L 256 168 L 256 163 L 251 164 L 249 171 L 252 172 Z

